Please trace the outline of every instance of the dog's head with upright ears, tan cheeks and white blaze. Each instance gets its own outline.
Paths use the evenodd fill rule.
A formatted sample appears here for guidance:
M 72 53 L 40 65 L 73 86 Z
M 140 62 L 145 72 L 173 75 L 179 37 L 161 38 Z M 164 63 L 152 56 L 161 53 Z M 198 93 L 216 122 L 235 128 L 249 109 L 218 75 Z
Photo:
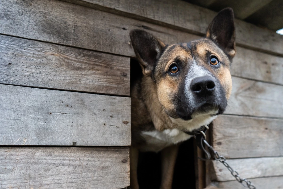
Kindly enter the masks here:
M 190 43 L 165 45 L 143 30 L 131 31 L 130 38 L 143 74 L 155 81 L 158 99 L 171 119 L 224 112 L 236 54 L 232 9 L 216 15 L 206 38 Z

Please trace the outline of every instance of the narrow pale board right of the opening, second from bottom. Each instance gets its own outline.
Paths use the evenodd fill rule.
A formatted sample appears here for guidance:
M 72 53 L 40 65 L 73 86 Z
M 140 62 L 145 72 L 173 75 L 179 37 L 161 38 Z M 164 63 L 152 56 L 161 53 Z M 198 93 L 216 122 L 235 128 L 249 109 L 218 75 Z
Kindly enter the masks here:
M 241 153 L 241 151 L 239 151 Z M 283 157 L 229 159 L 227 163 L 242 178 L 273 177 L 283 175 Z M 220 162 L 213 160 L 212 180 L 236 180 Z

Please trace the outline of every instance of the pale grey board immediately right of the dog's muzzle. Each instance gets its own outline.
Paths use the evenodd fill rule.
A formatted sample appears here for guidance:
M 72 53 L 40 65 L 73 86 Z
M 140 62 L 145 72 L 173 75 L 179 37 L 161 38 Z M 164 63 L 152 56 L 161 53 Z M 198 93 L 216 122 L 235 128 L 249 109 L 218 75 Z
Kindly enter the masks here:
M 232 77 L 226 114 L 283 117 L 283 86 Z

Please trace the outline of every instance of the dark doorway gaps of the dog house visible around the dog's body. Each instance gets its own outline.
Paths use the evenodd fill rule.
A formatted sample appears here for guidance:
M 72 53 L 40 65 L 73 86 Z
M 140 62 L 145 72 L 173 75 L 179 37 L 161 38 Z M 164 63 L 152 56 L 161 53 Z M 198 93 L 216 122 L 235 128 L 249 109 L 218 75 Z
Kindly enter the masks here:
M 131 84 L 142 77 L 138 61 L 131 59 Z M 156 189 L 161 182 L 160 152 L 140 152 L 138 163 L 138 182 L 140 189 Z M 193 139 L 183 142 L 179 147 L 174 177 L 173 189 L 196 188 L 194 145 Z

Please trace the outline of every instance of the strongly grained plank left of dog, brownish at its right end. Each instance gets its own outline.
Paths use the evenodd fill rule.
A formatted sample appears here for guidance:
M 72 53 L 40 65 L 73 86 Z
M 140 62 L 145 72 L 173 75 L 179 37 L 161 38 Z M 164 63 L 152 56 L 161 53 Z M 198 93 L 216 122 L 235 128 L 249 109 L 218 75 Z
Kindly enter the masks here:
M 130 58 L 0 35 L 0 83 L 130 95 Z

